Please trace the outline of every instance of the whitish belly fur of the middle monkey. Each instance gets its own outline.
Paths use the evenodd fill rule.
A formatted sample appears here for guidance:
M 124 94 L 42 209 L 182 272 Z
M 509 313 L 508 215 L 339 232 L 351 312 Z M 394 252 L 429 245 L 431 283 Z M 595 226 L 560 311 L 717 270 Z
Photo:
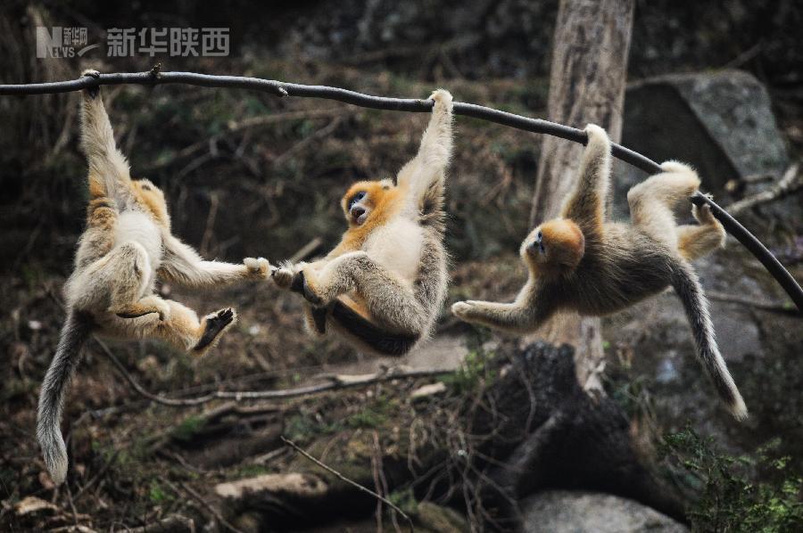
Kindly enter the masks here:
M 408 218 L 397 217 L 368 237 L 365 250 L 369 250 L 377 263 L 412 283 L 418 276 L 423 245 L 421 226 Z

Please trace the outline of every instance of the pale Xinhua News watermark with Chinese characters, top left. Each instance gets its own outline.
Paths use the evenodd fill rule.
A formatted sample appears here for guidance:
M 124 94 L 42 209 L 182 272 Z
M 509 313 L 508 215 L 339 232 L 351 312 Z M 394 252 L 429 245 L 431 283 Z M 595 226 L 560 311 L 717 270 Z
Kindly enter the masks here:
M 80 57 L 100 45 L 87 45 L 86 28 L 37 27 L 37 58 Z M 106 55 L 133 57 L 226 57 L 228 28 L 110 28 L 106 29 Z

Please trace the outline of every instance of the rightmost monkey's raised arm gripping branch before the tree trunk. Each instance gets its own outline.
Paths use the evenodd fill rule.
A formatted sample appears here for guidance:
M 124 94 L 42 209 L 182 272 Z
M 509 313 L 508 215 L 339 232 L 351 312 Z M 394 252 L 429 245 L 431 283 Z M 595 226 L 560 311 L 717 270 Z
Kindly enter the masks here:
M 580 162 L 575 189 L 561 209 L 561 217 L 571 218 L 585 232 L 598 231 L 605 222 L 605 200 L 610 182 L 610 139 L 605 130 L 585 127 L 588 144 Z

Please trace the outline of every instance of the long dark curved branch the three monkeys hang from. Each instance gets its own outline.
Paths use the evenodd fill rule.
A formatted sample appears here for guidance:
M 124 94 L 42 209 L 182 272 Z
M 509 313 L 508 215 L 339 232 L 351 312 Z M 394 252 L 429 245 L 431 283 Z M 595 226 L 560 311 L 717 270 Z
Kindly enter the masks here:
M 88 87 L 107 85 L 145 85 L 157 86 L 165 84 L 184 84 L 192 86 L 248 89 L 275 94 L 280 97 L 300 96 L 304 98 L 324 98 L 337 102 L 350 103 L 369 109 L 386 111 L 428 112 L 432 109 L 432 100 L 412 98 L 388 98 L 373 96 L 350 91 L 340 87 L 307 86 L 296 83 L 286 83 L 273 79 L 247 78 L 244 76 L 215 76 L 211 74 L 197 74 L 195 72 L 160 72 L 153 68 L 147 72 L 119 72 L 101 74 L 99 77 L 83 76 L 68 81 L 53 81 L 46 83 L 33 83 L 21 85 L 0 85 L 0 95 L 4 94 L 56 94 L 80 91 Z M 588 139 L 583 130 L 567 127 L 548 120 L 530 119 L 507 111 L 499 111 L 482 105 L 466 102 L 454 102 L 454 114 L 474 119 L 488 120 L 502 126 L 515 127 L 533 133 L 554 135 L 575 143 L 587 143 Z M 611 153 L 619 160 L 641 168 L 648 174 L 658 174 L 660 166 L 641 153 L 633 152 L 624 146 L 613 143 Z M 803 289 L 791 274 L 782 266 L 766 246 L 755 235 L 728 215 L 714 201 L 701 193 L 695 193 L 691 201 L 696 205 L 708 203 L 713 215 L 724 225 L 725 230 L 732 234 L 741 244 L 761 261 L 767 271 L 781 284 L 795 305 L 803 311 Z

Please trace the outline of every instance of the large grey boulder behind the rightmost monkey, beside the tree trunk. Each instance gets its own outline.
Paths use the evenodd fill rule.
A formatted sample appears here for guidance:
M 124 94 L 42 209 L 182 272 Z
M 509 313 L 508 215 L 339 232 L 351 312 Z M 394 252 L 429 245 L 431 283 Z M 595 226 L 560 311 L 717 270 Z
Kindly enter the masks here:
M 627 87 L 622 143 L 658 162 L 678 159 L 717 195 L 736 177 L 781 176 L 789 165 L 765 86 L 748 72 L 722 70 L 648 78 Z M 644 174 L 617 166 L 617 210 Z M 623 211 L 626 213 L 626 209 Z

